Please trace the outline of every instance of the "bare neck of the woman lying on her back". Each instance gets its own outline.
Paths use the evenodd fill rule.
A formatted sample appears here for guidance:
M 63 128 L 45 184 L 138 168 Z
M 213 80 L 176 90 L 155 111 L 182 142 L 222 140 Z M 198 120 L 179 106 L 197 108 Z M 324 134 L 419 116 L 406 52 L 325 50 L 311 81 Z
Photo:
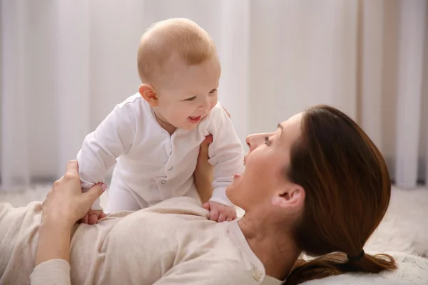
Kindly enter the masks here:
M 268 219 L 248 214 L 238 224 L 250 248 L 265 266 L 266 274 L 284 280 L 301 253 L 291 235 Z

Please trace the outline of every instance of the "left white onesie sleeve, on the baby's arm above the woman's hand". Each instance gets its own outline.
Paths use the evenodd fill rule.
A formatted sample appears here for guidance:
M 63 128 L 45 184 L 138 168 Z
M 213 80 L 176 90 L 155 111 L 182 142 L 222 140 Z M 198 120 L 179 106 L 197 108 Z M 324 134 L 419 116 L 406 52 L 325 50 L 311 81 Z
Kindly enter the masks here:
M 78 174 L 84 191 L 104 181 L 116 158 L 131 148 L 135 132 L 136 116 L 125 103 L 116 105 L 98 128 L 86 136 L 77 154 Z M 92 209 L 101 209 L 99 199 Z

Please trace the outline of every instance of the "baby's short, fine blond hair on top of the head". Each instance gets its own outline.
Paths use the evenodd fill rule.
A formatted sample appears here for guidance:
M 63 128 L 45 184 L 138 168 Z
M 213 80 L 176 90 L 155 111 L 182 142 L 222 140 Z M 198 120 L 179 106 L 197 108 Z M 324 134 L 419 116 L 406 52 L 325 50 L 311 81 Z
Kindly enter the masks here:
M 153 83 L 165 72 L 165 64 L 177 57 L 188 65 L 203 63 L 217 51 L 208 33 L 188 19 L 168 19 L 153 24 L 138 46 L 138 76 Z

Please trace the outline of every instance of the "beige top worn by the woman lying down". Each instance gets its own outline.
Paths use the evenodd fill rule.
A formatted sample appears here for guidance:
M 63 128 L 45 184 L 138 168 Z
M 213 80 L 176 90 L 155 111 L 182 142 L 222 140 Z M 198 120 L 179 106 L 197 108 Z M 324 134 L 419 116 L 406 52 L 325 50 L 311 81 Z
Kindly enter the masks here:
M 0 284 L 281 284 L 265 276 L 237 221 L 209 221 L 190 197 L 76 226 L 71 266 L 34 269 L 40 222 L 39 202 L 0 204 Z

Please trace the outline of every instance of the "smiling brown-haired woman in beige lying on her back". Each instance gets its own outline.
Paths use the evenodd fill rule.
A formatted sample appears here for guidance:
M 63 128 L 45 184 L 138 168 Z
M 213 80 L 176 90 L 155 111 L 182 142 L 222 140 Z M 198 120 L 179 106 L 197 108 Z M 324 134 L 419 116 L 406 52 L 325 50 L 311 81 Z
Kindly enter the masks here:
M 0 208 L 0 284 L 28 284 L 30 274 L 31 284 L 300 284 L 395 269 L 392 257 L 362 249 L 391 185 L 379 150 L 347 115 L 316 106 L 247 143 L 245 174 L 227 190 L 245 210 L 233 222 L 209 221 L 179 197 L 76 226 L 102 187 L 82 194 L 69 162 L 43 209 Z M 295 266 L 302 252 L 317 258 Z

